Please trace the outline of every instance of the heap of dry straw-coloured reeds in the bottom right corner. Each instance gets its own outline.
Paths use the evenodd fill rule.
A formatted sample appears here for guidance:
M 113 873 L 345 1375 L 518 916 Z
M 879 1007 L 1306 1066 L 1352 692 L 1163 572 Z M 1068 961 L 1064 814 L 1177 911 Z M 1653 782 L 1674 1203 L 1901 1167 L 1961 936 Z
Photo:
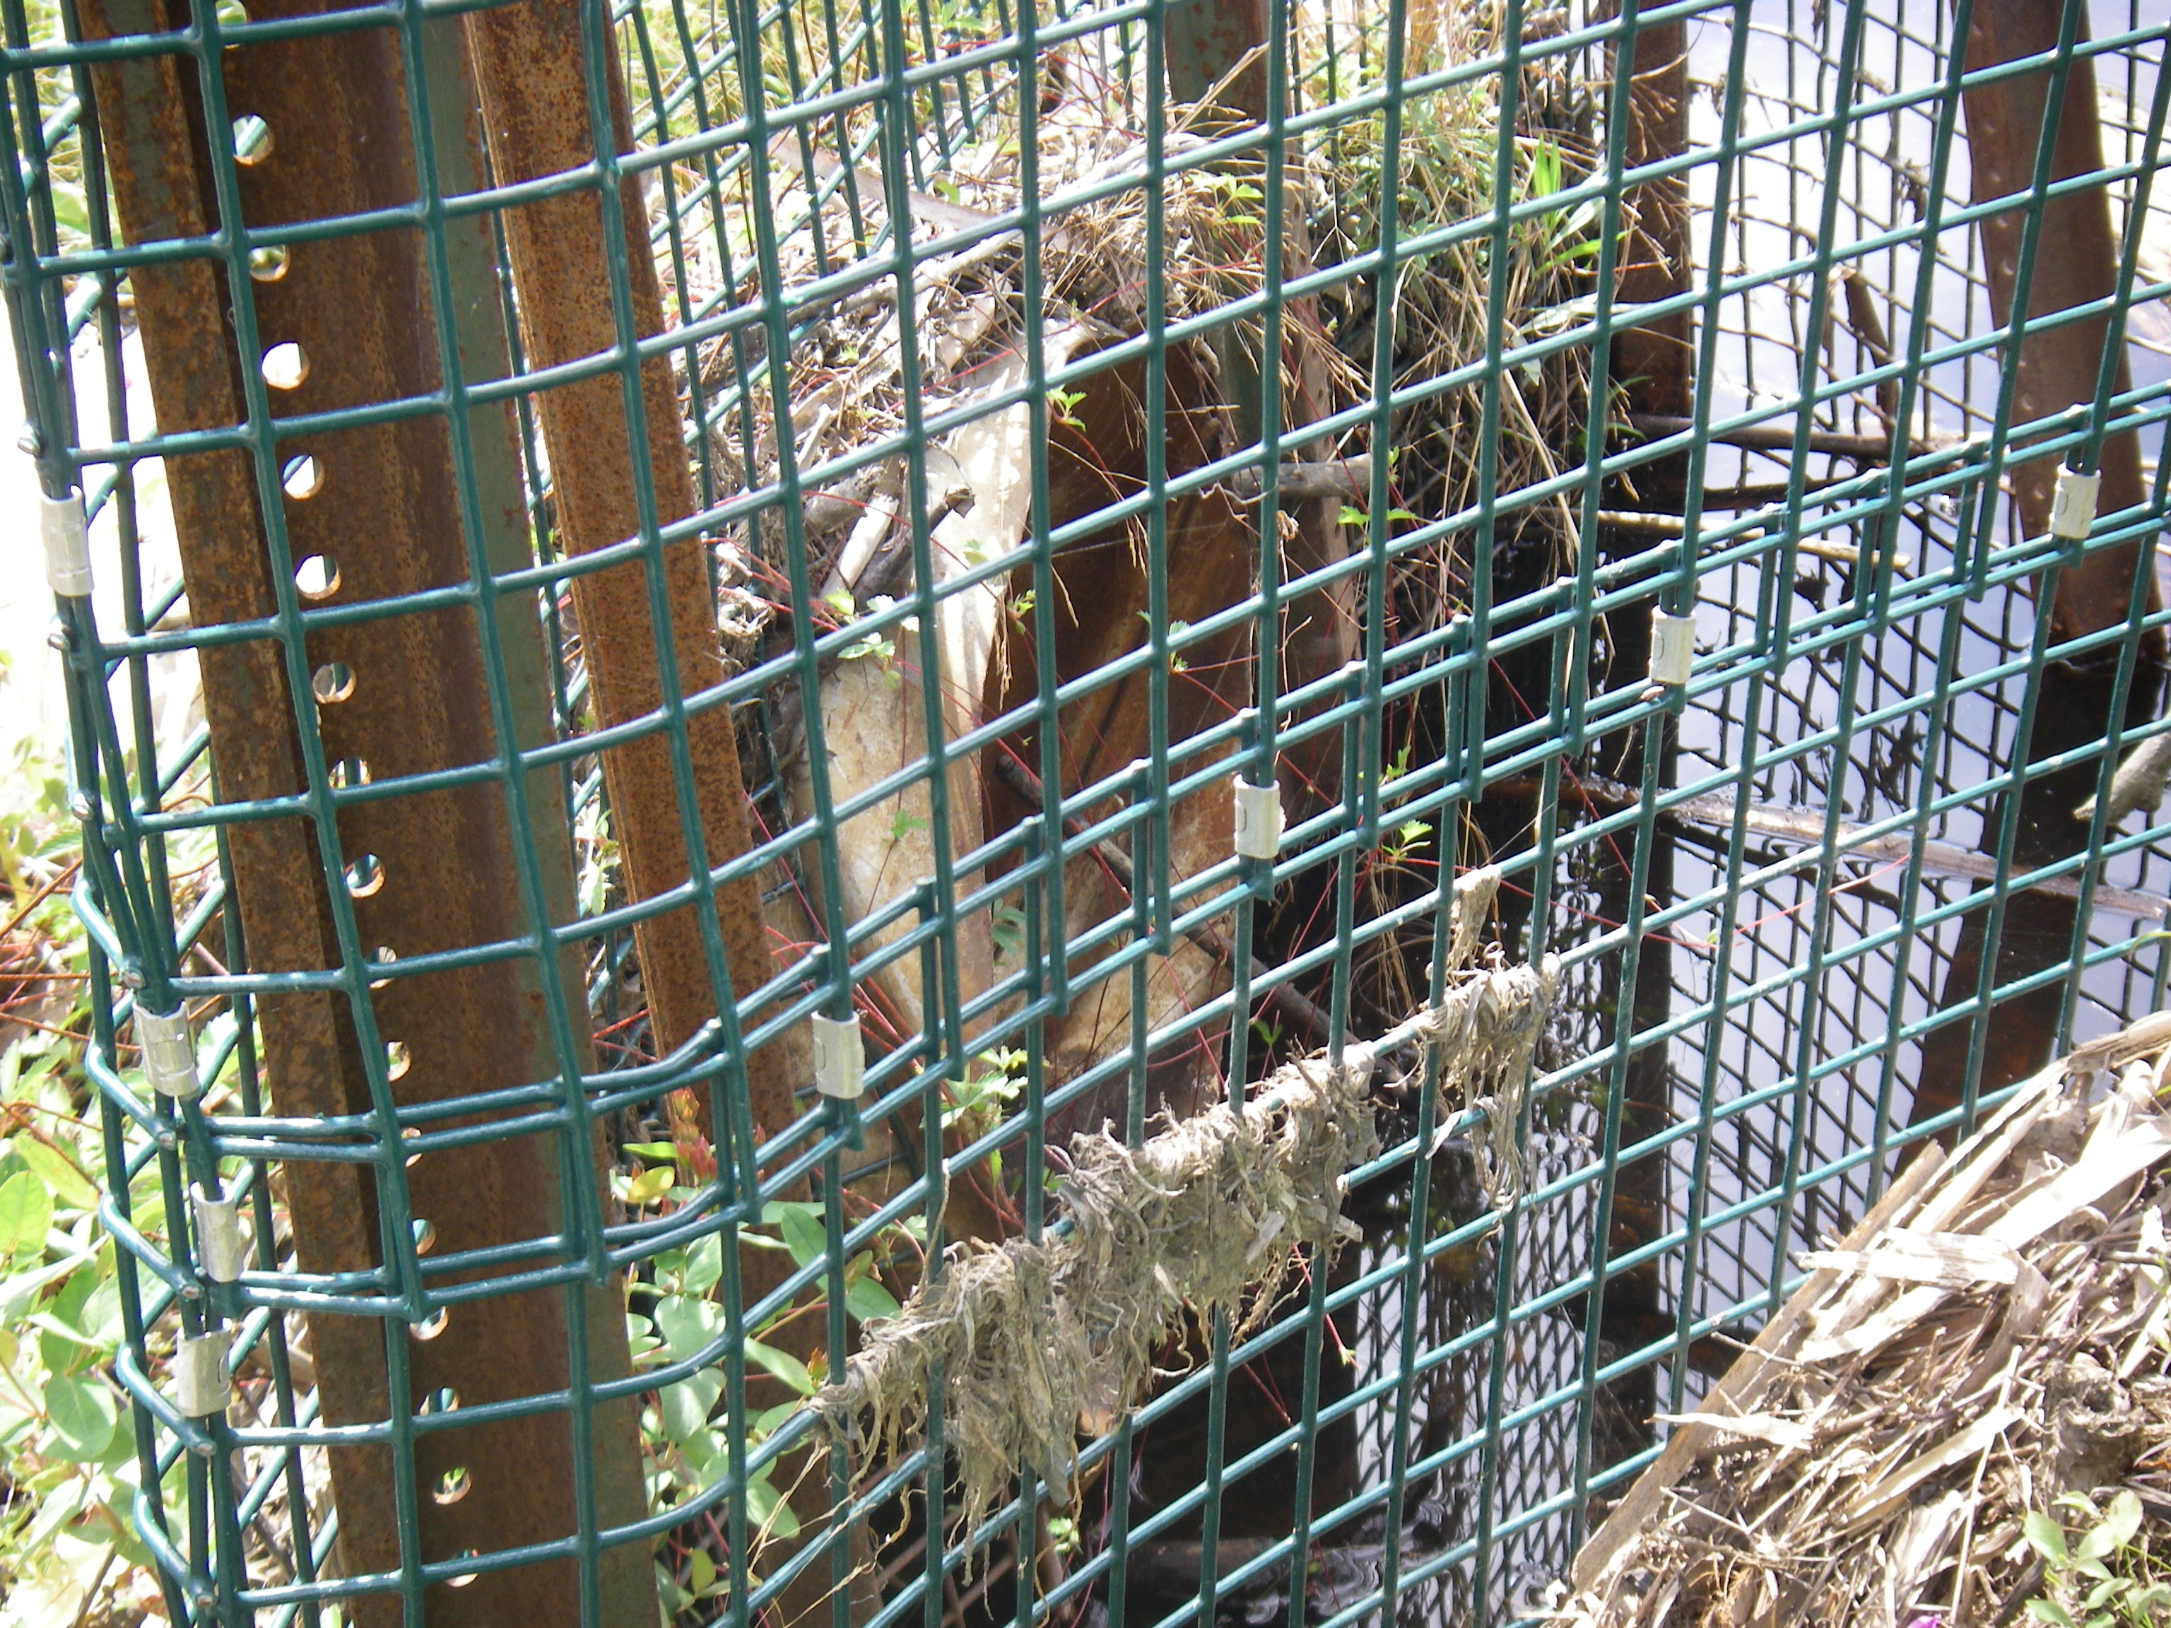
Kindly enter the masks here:
M 2167 1088 L 2158 1014 L 1926 1148 L 1672 1420 L 1557 1619 L 2162 1621 Z

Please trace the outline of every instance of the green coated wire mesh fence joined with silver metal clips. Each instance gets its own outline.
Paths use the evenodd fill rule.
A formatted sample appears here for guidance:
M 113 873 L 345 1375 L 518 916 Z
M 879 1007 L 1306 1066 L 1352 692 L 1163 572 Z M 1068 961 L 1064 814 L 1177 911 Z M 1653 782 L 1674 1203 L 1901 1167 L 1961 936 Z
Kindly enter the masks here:
M 174 1624 L 1524 1617 L 2164 1003 L 2160 4 L 0 22 Z

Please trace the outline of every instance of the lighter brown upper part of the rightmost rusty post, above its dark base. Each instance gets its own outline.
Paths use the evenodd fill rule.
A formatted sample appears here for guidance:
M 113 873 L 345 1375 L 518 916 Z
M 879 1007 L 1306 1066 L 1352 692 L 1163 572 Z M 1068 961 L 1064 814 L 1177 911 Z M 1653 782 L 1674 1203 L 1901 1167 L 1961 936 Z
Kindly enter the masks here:
M 2080 4 L 2080 0 L 2069 0 Z M 1976 0 L 1967 28 L 1967 69 L 1980 72 L 2023 56 L 2056 50 L 2060 7 L 2045 0 Z M 2089 39 L 2086 13 L 2080 17 L 2080 41 Z M 2043 119 L 2049 115 L 2052 69 L 2017 74 L 1965 93 L 1967 158 L 1971 198 L 1989 204 L 2034 187 L 2036 148 Z M 2058 96 L 2056 150 L 2052 185 L 2073 176 L 2102 171 L 2104 124 L 2095 102 L 2095 63 L 2073 56 L 2065 69 Z M 1999 323 L 2013 321 L 2013 295 L 2019 282 L 2021 237 L 2028 230 L 2026 204 L 1989 215 L 1978 226 L 1982 260 L 1991 284 L 1991 313 Z M 2086 317 L 2056 328 L 2034 328 L 2062 310 L 2108 300 L 2117 291 L 2119 234 L 2110 221 L 2110 191 L 2084 191 L 2052 198 L 2043 204 L 2043 230 L 2036 243 L 2034 274 L 2028 280 L 2030 334 L 2021 341 L 2019 380 L 2013 393 L 2013 421 L 2028 423 L 2062 412 L 2075 402 L 2095 399 L 2095 378 L 2104 358 L 2108 321 Z M 2117 391 L 2132 378 L 2123 347 L 2117 358 Z M 2049 454 L 2015 456 L 2006 465 L 2021 521 L 2030 536 L 2049 530 L 2052 486 L 2058 462 Z M 2102 488 L 2097 508 L 2115 512 L 2145 499 L 2141 482 L 2141 445 L 2134 434 L 2104 441 Z M 2058 577 L 2052 627 L 2058 638 L 2117 627 L 2132 603 L 2134 571 L 2143 569 L 2143 543 L 2125 543 L 2091 554 Z M 2156 608 L 2156 584 L 2149 580 L 2149 608 Z

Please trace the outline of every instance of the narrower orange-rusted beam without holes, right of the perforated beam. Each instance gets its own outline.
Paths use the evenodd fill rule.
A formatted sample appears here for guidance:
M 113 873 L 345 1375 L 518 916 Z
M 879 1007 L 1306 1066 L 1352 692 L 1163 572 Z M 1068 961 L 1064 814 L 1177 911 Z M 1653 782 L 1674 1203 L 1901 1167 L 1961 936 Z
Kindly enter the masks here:
M 467 41 L 499 185 L 560 176 L 595 163 L 597 143 L 588 124 L 591 65 L 582 28 L 582 9 L 573 0 L 517 0 L 469 13 Z M 593 72 L 604 74 L 610 87 L 614 145 L 630 152 L 617 59 L 606 52 Z M 599 193 L 582 189 L 508 208 L 502 217 L 512 282 L 519 289 L 521 334 L 534 369 L 601 356 L 619 345 L 610 295 L 612 258 L 627 267 L 632 336 L 651 339 L 664 330 L 662 289 L 649 252 L 638 178 L 627 176 L 619 187 L 617 243 L 606 234 L 601 202 Z M 564 551 L 593 554 L 640 536 L 640 480 L 619 376 L 560 384 L 538 393 L 534 402 Z M 653 491 L 653 519 L 671 525 L 695 512 L 695 491 L 680 434 L 677 389 L 662 356 L 640 369 L 640 428 L 647 436 L 640 473 Z M 664 549 L 662 575 L 675 688 L 686 699 L 710 695 L 725 673 L 701 545 L 684 540 Z M 664 697 L 662 645 L 649 616 L 647 567 L 627 562 L 573 577 L 571 593 L 597 723 L 608 729 L 656 718 Z M 708 705 L 688 716 L 686 740 L 706 857 L 710 866 L 719 866 L 751 847 L 729 710 Z M 658 729 L 604 751 L 604 784 L 610 790 L 627 894 L 653 899 L 684 886 L 686 838 L 666 736 Z M 760 988 L 769 977 L 769 944 L 760 888 L 751 877 L 716 890 L 716 927 L 734 990 L 747 994 Z M 701 923 L 688 905 L 638 925 L 634 940 L 656 1042 L 669 1051 L 716 1016 Z M 756 1127 L 773 1133 L 792 1122 L 792 1081 L 782 1046 L 747 1057 L 745 1079 Z M 714 1127 L 712 1135 L 721 1129 Z

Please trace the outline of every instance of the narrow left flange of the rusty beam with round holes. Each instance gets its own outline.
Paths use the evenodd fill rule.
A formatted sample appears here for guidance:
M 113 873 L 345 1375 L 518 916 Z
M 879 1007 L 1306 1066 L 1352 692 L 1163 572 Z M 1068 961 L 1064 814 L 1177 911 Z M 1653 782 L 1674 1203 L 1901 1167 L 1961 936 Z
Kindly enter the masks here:
M 87 37 L 137 35 L 180 26 L 163 7 L 106 0 L 80 7 Z M 130 243 L 204 237 L 211 202 L 198 152 L 193 98 L 180 59 L 135 56 L 91 69 L 113 208 Z M 226 291 L 208 260 L 165 260 L 130 274 L 137 330 L 163 430 L 239 423 Z M 276 610 L 267 560 L 256 543 L 261 519 L 245 451 L 165 460 L 174 530 L 180 543 L 189 614 L 198 627 L 254 621 Z M 293 697 L 269 643 L 206 645 L 198 656 L 204 718 L 219 794 L 287 797 L 304 790 L 300 742 L 278 721 Z M 269 727 L 267 727 L 269 723 Z M 228 834 L 234 903 L 250 959 L 261 968 L 337 966 L 326 918 L 323 873 L 304 821 L 243 821 Z M 282 1114 L 345 1114 L 367 1105 L 347 1014 L 332 994 L 265 994 L 256 1001 L 263 1068 Z M 376 1265 L 376 1224 L 360 1166 L 330 1163 L 287 1194 L 295 1255 L 306 1272 L 365 1272 Z M 317 1396 L 326 1422 L 363 1424 L 386 1413 L 384 1352 L 360 1318 L 310 1318 Z M 339 1448 L 330 1454 L 332 1498 L 341 1515 L 341 1554 L 350 1572 L 397 1565 L 389 1454 Z M 363 1628 L 399 1621 L 393 1600 L 352 1602 Z

